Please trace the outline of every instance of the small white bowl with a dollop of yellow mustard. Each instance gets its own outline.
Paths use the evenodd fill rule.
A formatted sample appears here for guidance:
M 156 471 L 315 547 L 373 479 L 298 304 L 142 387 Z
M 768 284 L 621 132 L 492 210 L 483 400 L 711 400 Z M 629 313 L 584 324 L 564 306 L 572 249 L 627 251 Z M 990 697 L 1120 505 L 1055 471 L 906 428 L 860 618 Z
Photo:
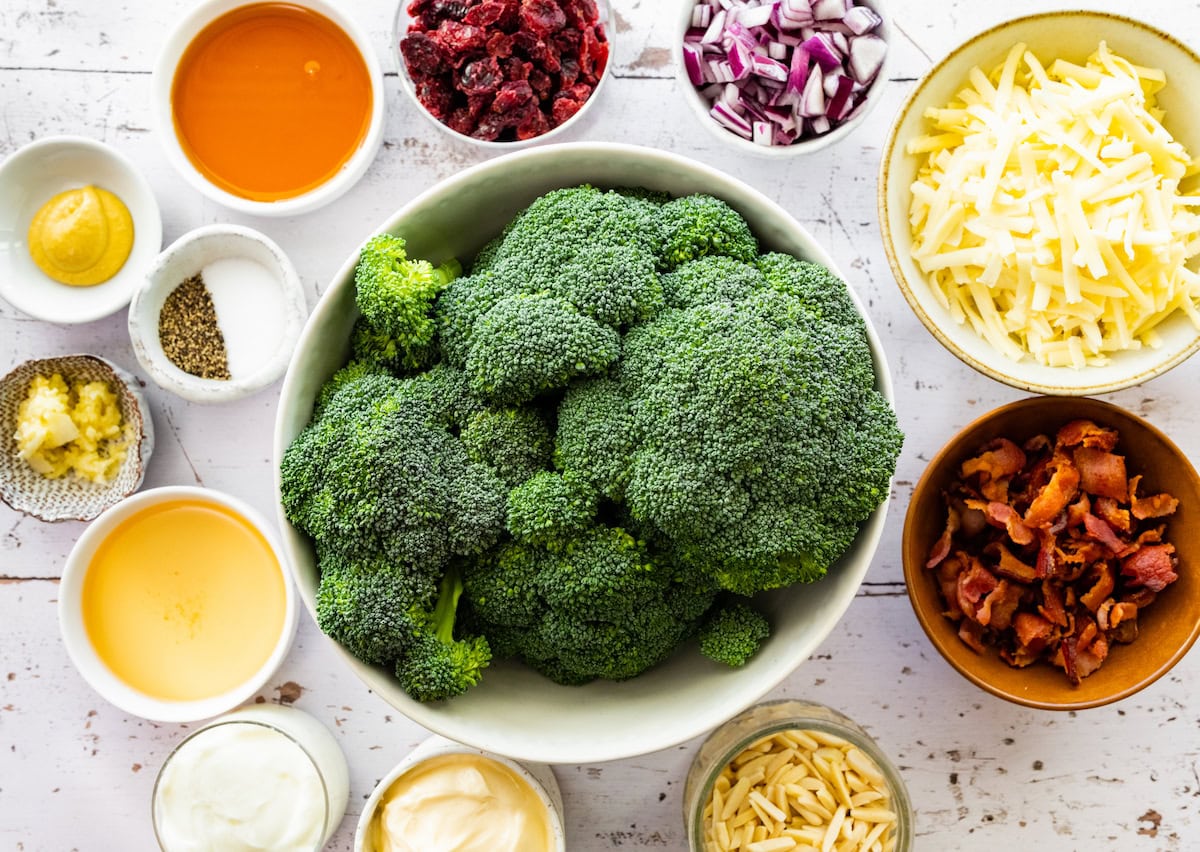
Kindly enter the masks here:
M 116 149 L 50 137 L 0 164 L 0 299 L 36 319 L 88 323 L 125 307 L 162 247 L 158 203 Z

